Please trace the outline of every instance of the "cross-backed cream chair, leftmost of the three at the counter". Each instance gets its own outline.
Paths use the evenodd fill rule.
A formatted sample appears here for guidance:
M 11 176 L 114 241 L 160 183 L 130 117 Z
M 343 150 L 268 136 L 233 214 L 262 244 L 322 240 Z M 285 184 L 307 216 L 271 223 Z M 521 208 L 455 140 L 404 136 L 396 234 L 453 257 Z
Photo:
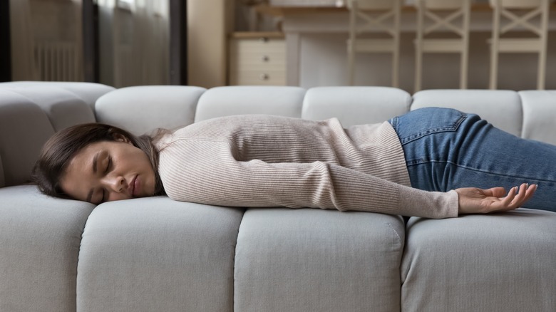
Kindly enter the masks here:
M 354 85 L 356 53 L 392 53 L 392 86 L 398 87 L 401 0 L 349 0 L 347 7 L 349 84 Z M 365 33 L 388 38 L 364 38 Z

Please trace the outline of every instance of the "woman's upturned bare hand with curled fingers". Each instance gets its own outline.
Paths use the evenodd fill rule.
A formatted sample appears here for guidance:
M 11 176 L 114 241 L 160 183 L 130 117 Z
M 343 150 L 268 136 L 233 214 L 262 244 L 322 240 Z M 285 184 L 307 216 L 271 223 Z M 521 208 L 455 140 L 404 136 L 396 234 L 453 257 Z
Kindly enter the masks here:
M 490 212 L 506 212 L 521 207 L 535 191 L 537 184 L 523 183 L 520 187 L 512 187 L 506 194 L 503 187 L 478 189 L 464 187 L 455 189 L 459 195 L 459 214 L 488 214 Z M 505 195 L 505 196 L 504 196 Z

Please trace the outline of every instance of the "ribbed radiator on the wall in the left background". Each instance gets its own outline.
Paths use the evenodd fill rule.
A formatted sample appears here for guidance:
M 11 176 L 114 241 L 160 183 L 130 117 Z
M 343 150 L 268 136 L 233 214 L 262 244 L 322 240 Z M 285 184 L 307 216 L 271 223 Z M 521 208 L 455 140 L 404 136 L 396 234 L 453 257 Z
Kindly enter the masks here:
M 35 45 L 35 65 L 43 81 L 80 81 L 81 64 L 73 42 L 42 42 Z

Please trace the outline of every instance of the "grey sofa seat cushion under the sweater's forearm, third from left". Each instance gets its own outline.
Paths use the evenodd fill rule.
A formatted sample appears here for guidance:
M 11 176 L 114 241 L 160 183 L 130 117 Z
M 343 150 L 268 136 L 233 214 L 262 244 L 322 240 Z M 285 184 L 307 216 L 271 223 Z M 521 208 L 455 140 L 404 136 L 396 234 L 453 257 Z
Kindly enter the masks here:
M 403 240 L 397 216 L 248 209 L 234 311 L 399 311 Z

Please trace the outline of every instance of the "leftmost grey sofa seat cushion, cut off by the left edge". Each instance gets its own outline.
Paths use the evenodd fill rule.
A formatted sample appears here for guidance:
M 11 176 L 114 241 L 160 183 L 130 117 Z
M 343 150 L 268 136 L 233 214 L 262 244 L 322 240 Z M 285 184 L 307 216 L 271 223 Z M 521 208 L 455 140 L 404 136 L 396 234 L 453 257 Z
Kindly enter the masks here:
M 94 205 L 0 188 L 0 311 L 76 311 L 81 234 Z

